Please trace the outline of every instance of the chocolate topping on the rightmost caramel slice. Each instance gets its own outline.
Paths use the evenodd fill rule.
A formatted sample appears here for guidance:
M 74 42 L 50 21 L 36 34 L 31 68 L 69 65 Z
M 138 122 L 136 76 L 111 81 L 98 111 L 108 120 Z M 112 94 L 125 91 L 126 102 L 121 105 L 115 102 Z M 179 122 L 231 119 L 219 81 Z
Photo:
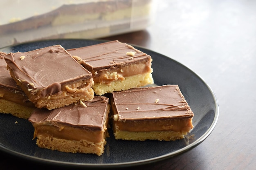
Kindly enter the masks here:
M 134 88 L 113 92 L 112 95 L 118 113 L 118 117 L 114 115 L 115 121 L 193 117 L 193 112 L 178 85 Z

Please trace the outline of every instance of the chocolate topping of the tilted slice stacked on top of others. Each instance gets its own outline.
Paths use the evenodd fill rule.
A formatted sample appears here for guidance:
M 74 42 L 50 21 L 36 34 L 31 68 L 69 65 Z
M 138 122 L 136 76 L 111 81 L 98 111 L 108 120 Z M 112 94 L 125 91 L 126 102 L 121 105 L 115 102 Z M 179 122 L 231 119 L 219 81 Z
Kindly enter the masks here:
M 31 92 L 42 88 L 43 96 L 60 92 L 63 84 L 92 79 L 92 74 L 60 45 L 24 53 L 9 53 L 4 59 L 14 79 L 22 82 Z

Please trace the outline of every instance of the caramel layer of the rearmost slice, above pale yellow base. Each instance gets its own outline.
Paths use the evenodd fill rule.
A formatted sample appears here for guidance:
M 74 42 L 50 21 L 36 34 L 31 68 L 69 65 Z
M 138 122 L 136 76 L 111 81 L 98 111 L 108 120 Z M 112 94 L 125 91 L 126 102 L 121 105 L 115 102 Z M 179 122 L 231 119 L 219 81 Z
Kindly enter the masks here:
M 132 75 L 151 73 L 151 61 L 137 62 L 119 68 L 101 69 L 99 71 L 92 70 L 92 77 L 95 83 L 110 83 L 115 80 L 124 80 Z

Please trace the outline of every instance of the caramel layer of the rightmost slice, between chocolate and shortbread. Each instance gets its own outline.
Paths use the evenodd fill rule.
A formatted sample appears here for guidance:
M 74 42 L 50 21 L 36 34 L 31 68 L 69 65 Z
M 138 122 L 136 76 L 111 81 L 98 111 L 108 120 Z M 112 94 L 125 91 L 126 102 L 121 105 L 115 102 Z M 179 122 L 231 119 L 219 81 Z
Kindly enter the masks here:
M 129 132 L 174 131 L 189 132 L 192 128 L 192 118 L 145 121 L 113 121 L 118 130 Z

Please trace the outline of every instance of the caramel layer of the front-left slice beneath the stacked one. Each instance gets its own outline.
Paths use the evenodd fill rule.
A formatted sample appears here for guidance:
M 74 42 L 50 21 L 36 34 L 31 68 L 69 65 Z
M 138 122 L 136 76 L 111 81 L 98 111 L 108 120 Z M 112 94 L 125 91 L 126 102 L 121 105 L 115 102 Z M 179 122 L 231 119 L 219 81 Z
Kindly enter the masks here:
M 81 129 L 74 128 L 70 126 L 51 126 L 51 125 L 39 125 L 34 124 L 34 138 L 38 135 L 42 135 L 44 137 L 55 137 L 59 139 L 67 139 L 67 140 L 86 140 L 93 143 L 101 142 L 105 139 L 107 131 L 104 128 L 102 130 L 91 130 L 91 129 Z

